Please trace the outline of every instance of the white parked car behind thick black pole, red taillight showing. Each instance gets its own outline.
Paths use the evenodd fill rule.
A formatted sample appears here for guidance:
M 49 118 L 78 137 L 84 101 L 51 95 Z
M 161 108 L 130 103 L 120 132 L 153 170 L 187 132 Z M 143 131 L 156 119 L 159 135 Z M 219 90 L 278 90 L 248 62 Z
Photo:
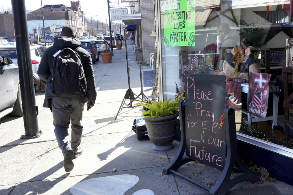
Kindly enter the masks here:
M 0 56 L 9 57 L 12 59 L 13 63 L 17 65 L 17 55 L 16 55 L 16 44 L 13 43 L 4 44 L 0 46 Z M 31 50 L 31 65 L 33 68 L 33 79 L 34 79 L 34 85 L 37 86 L 40 77 L 37 74 L 38 67 L 42 58 L 43 53 L 47 47 L 45 47 L 42 44 L 32 44 L 30 45 Z

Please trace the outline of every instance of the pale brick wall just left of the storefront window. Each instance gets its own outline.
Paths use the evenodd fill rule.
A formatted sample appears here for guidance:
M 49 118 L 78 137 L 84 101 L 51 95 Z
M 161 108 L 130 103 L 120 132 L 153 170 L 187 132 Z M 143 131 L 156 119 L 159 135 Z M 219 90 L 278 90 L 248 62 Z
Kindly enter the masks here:
M 155 30 L 154 1 L 140 0 L 141 8 L 141 38 L 143 49 L 143 61 L 147 61 L 150 53 L 155 49 L 155 37 L 151 37 L 152 30 Z

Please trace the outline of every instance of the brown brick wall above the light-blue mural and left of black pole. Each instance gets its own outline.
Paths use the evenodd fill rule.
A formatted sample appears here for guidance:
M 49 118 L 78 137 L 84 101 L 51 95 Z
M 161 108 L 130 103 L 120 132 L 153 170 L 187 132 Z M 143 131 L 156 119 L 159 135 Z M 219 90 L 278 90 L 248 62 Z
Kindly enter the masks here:
M 74 15 L 72 14 L 72 19 Z M 76 16 L 75 16 L 76 17 Z M 28 13 L 27 20 L 42 20 L 42 13 Z M 44 12 L 44 19 L 65 19 L 68 20 L 68 12 Z M 14 35 L 14 25 L 12 14 L 0 14 L 0 37 L 15 38 Z

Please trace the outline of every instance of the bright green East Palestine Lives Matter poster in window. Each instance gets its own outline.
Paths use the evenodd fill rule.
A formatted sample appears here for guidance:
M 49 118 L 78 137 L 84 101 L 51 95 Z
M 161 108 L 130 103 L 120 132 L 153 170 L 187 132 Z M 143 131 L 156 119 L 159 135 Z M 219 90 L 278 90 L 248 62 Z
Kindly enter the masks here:
M 190 1 L 190 0 L 189 0 Z M 164 9 L 164 45 L 195 45 L 195 13 L 187 0 L 173 1 L 177 5 Z M 163 5 L 161 5 L 162 8 Z

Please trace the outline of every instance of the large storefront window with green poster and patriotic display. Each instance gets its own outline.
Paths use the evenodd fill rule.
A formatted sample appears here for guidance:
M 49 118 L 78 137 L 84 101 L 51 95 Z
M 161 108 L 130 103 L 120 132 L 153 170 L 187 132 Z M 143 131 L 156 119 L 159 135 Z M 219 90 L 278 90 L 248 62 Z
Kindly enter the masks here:
M 283 82 L 282 67 L 291 67 L 289 12 L 290 1 L 161 0 L 163 99 L 183 93 L 184 73 L 225 75 L 226 108 L 236 111 L 237 131 L 293 148 L 280 128 L 283 91 L 273 93 L 270 83 Z

